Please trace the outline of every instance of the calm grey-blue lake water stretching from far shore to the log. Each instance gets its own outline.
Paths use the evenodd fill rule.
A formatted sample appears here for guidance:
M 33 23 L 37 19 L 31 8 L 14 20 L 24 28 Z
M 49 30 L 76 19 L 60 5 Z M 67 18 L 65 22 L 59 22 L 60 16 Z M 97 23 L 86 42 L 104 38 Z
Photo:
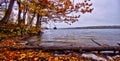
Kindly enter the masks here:
M 32 45 L 44 47 L 87 47 L 101 45 L 119 46 L 120 29 L 57 29 L 45 30 L 42 38 L 34 36 L 27 41 Z M 30 45 L 31 45 L 30 44 Z

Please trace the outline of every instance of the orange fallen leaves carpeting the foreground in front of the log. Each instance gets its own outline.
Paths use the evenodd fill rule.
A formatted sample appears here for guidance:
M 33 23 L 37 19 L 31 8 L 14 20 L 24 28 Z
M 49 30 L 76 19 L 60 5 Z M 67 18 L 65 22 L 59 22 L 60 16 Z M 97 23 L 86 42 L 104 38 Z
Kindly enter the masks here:
M 6 51 L 1 51 L 1 50 Z M 45 52 L 43 50 L 33 50 L 33 49 L 25 49 L 25 50 L 11 50 L 8 48 L 2 48 L 0 50 L 0 60 L 2 61 L 93 61 L 96 60 L 95 58 L 90 57 L 84 57 L 82 55 L 79 56 L 79 53 L 71 54 L 63 54 L 55 56 L 52 52 Z M 94 54 L 96 55 L 96 54 Z M 98 54 L 96 55 L 100 58 L 104 58 L 103 55 Z M 102 57 L 101 57 L 102 56 Z M 109 60 L 107 58 L 104 58 L 107 61 L 114 61 L 114 60 L 120 60 L 120 56 L 114 56 L 113 60 Z

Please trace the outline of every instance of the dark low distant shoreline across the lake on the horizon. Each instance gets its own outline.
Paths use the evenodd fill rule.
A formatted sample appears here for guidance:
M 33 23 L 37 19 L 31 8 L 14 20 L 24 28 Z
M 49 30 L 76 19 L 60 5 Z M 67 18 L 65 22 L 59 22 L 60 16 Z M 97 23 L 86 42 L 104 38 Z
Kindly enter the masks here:
M 86 27 L 69 27 L 58 29 L 120 29 L 120 26 L 86 26 Z

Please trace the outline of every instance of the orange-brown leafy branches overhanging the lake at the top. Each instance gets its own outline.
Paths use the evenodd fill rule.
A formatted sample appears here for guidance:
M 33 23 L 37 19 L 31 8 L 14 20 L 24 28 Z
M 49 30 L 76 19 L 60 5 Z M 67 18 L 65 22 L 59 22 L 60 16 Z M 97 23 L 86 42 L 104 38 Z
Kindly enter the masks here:
M 75 3 L 74 0 L 29 0 L 21 2 L 21 10 L 27 8 L 31 14 L 38 14 L 41 22 L 74 23 L 80 15 L 91 13 L 93 8 L 90 0 Z M 72 15 L 79 13 L 76 15 Z

